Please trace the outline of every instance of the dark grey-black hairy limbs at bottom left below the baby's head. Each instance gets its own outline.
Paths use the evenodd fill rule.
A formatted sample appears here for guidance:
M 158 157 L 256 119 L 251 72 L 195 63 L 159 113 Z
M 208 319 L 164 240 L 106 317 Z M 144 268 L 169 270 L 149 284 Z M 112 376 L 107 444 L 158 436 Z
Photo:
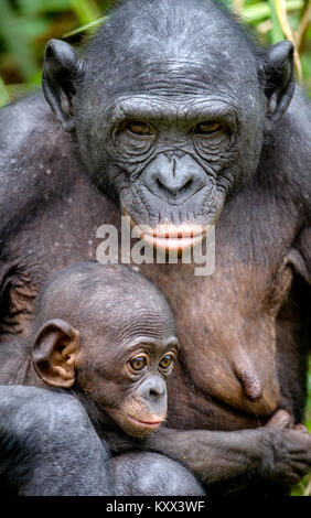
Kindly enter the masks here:
M 0 386 L 0 494 L 202 496 L 204 490 L 163 455 L 111 458 L 75 397 Z

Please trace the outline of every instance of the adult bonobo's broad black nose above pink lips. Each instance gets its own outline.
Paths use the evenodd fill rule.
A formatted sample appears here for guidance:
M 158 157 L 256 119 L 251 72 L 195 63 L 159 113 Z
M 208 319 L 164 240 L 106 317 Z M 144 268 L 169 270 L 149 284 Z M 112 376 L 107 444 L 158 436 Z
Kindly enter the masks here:
M 168 203 L 184 202 L 206 185 L 203 168 L 186 153 L 162 153 L 146 169 L 144 184 Z

